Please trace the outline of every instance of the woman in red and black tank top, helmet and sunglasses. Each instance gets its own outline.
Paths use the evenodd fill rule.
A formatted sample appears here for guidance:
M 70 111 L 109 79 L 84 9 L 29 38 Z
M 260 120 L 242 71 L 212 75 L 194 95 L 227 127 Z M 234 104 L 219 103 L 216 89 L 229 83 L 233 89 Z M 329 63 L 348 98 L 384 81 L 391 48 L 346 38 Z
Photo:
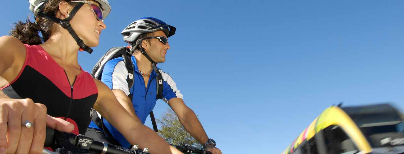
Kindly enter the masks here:
M 78 64 L 78 50 L 91 52 L 99 44 L 108 1 L 29 2 L 36 21 L 20 21 L 12 36 L 0 37 L 0 154 L 41 153 L 46 126 L 84 134 L 93 108 L 131 144 L 153 154 L 181 154 L 131 117 L 111 90 Z M 121 120 L 126 123 L 117 123 Z M 137 143 L 137 138 L 148 140 Z

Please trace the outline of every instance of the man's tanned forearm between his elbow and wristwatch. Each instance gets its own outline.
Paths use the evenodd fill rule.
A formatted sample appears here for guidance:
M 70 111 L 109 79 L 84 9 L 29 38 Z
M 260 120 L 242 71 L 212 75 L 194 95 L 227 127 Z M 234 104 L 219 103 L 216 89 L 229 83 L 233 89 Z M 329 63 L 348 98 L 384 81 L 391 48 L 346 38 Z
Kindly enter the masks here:
M 202 124 L 196 117 L 196 114 L 190 108 L 187 108 L 184 115 L 178 117 L 181 124 L 184 126 L 185 130 L 189 132 L 199 143 L 202 145 L 208 140 L 208 135 L 206 135 Z

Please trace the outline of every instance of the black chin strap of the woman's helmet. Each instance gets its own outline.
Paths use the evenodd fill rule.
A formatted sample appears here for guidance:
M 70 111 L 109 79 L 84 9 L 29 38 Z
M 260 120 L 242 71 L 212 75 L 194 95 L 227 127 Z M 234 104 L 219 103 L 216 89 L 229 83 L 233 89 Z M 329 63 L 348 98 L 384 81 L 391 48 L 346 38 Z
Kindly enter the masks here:
M 91 52 L 93 52 L 93 49 L 91 49 L 90 47 L 86 46 L 83 42 L 83 40 L 80 39 L 80 37 L 78 37 L 78 35 L 76 34 L 76 32 L 74 32 L 72 26 L 70 25 L 70 21 L 73 19 L 74 15 L 76 15 L 77 11 L 84 5 L 84 3 L 78 3 L 76 6 L 74 6 L 72 12 L 69 13 L 69 17 L 67 19 L 59 19 L 53 15 L 49 15 L 47 13 L 42 12 L 43 8 L 45 7 L 45 4 L 42 4 L 40 6 L 40 11 L 38 12 L 38 16 L 40 17 L 44 17 L 50 21 L 53 21 L 55 23 L 59 23 L 59 25 L 61 25 L 64 29 L 66 29 L 67 31 L 69 31 L 70 35 L 72 35 L 72 37 L 74 38 L 74 40 L 76 40 L 77 45 L 80 47 L 80 51 L 86 51 L 89 54 L 91 54 Z

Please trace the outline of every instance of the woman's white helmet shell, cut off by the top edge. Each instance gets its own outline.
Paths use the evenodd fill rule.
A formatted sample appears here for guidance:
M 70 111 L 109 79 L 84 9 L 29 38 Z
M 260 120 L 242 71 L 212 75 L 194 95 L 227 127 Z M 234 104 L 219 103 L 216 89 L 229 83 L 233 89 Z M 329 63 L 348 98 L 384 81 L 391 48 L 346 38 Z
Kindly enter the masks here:
M 29 10 L 34 13 L 34 15 L 38 15 L 39 6 L 44 4 L 47 0 L 28 0 L 29 2 Z M 101 9 L 103 13 L 103 20 L 109 15 L 111 12 L 111 5 L 109 5 L 108 0 L 94 0 L 101 4 Z

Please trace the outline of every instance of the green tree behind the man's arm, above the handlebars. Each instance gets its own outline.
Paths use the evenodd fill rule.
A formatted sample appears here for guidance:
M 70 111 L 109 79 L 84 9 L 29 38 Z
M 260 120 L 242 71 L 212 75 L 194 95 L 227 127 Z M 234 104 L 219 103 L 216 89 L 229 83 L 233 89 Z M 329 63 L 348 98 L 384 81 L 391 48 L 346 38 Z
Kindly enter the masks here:
M 168 144 L 184 146 L 185 144 L 202 149 L 202 145 L 192 137 L 179 122 L 177 114 L 167 108 L 167 111 L 156 119 L 161 126 L 158 134 L 163 137 Z

